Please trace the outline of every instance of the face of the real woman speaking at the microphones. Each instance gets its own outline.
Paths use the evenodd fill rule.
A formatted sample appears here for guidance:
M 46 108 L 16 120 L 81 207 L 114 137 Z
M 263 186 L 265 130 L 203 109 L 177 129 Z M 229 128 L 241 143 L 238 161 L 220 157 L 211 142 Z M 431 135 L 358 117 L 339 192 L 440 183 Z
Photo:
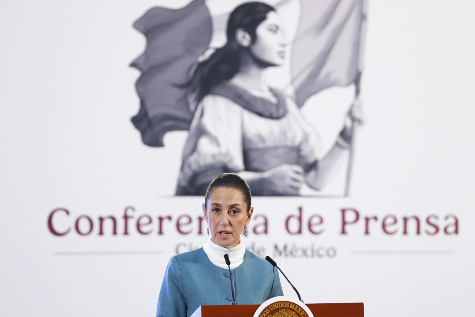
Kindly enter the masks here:
M 253 207 L 247 212 L 247 204 L 242 193 L 234 188 L 218 187 L 211 191 L 203 204 L 203 215 L 209 225 L 211 240 L 224 248 L 239 244 L 244 226 L 251 220 Z

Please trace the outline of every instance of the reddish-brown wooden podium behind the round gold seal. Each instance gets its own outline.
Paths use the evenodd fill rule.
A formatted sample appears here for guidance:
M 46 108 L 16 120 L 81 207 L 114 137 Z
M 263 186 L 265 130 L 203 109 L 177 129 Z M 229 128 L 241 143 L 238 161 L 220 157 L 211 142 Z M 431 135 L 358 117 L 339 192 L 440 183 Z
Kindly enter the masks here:
M 363 303 L 305 304 L 314 317 L 363 317 Z M 207 305 L 190 317 L 253 317 L 259 305 Z

